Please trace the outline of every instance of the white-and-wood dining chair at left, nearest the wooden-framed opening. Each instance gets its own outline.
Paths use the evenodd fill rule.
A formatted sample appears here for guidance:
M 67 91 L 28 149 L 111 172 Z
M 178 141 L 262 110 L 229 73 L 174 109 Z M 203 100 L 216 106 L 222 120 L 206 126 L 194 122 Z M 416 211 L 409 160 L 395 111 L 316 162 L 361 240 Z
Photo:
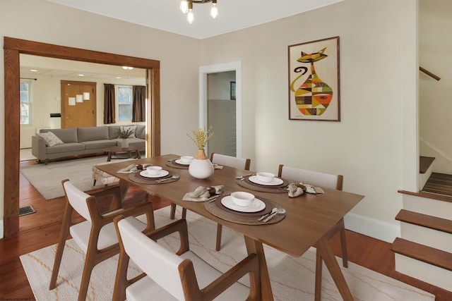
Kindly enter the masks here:
M 112 186 L 95 190 L 91 195 L 79 190 L 68 179 L 62 180 L 61 184 L 66 195 L 66 209 L 64 211 L 63 223 L 59 235 L 57 252 L 55 254 L 54 267 L 50 278 L 49 290 L 57 286 L 61 257 L 69 234 L 77 243 L 78 247 L 85 253 L 85 263 L 81 278 L 78 300 L 84 301 L 88 293 L 90 276 L 96 264 L 119 253 L 118 237 L 114 228 L 114 217 L 121 214 L 127 216 L 131 225 L 138 231 L 151 231 L 155 228 L 152 203 L 145 202 L 136 207 L 123 209 L 121 205 L 121 189 Z M 147 195 L 147 194 L 146 194 Z M 100 211 L 100 200 L 109 197 L 112 205 L 106 213 Z M 85 221 L 72 222 L 73 211 L 80 214 Z M 138 219 L 133 216 L 138 216 Z

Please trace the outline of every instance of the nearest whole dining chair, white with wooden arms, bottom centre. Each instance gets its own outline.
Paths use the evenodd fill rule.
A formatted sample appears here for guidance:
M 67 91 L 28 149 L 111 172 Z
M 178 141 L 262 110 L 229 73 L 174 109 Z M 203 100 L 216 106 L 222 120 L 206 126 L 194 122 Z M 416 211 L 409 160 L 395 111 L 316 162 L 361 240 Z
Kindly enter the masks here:
M 189 250 L 185 219 L 143 233 L 121 216 L 114 223 L 121 252 L 113 300 L 261 300 L 260 269 L 255 253 L 222 274 Z M 172 233 L 179 233 L 180 247 L 176 254 L 157 243 Z M 127 279 L 130 259 L 143 274 Z M 237 282 L 246 274 L 250 287 Z

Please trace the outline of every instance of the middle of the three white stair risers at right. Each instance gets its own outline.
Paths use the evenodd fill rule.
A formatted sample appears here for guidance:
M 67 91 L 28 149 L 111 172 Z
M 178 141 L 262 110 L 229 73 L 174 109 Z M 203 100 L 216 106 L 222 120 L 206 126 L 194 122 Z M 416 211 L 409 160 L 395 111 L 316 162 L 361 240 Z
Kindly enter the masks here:
M 434 247 L 452 253 L 452 234 L 436 231 L 431 228 L 413 225 L 412 223 L 400 223 L 401 238 L 417 242 L 421 245 Z

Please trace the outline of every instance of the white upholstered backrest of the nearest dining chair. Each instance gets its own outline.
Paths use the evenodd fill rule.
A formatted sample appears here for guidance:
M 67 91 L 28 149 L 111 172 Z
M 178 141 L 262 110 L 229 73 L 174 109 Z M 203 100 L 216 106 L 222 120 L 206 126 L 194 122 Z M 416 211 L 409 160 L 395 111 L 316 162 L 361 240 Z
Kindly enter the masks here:
M 133 262 L 177 300 L 185 300 L 178 269 L 184 259 L 157 245 L 127 219 L 119 221 L 118 228 L 124 250 Z

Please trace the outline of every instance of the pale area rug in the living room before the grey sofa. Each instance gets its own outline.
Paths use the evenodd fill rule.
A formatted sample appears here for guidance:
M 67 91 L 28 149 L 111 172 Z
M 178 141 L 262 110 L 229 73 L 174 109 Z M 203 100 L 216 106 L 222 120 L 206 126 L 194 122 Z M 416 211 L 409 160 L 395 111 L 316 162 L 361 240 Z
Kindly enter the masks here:
M 107 156 L 55 161 L 49 164 L 35 164 L 20 167 L 20 173 L 33 185 L 44 199 L 64 196 L 61 180 L 69 178 L 77 188 L 87 191 L 99 188 L 93 186 L 93 165 L 107 163 Z M 111 161 L 117 163 L 117 161 Z

